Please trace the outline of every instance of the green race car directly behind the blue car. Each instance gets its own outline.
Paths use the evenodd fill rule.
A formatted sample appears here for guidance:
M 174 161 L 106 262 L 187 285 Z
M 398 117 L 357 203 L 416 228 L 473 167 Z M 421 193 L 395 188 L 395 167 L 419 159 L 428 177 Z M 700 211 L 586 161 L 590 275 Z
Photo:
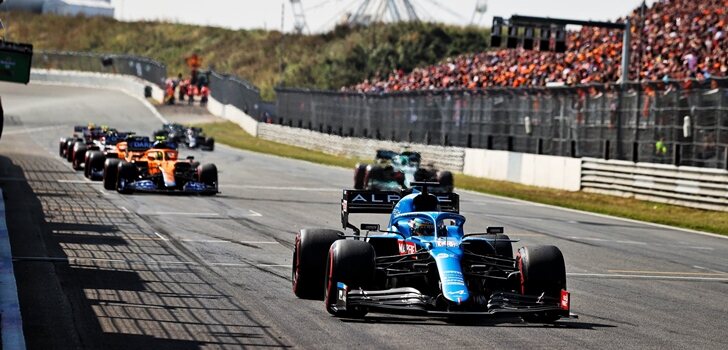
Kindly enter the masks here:
M 449 193 L 454 188 L 451 172 L 422 166 L 422 156 L 417 152 L 377 150 L 374 164 L 357 164 L 354 168 L 357 190 L 396 191 L 410 188 L 415 181 L 440 183 L 436 192 Z

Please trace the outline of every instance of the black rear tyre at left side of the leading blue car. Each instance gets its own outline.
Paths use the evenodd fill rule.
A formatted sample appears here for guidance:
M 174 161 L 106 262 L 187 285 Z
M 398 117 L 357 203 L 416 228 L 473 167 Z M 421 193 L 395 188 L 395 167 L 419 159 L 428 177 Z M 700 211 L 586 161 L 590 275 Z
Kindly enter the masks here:
M 331 244 L 343 239 L 343 233 L 327 229 L 303 229 L 293 247 L 291 282 L 293 293 L 302 299 L 323 299 L 326 258 Z

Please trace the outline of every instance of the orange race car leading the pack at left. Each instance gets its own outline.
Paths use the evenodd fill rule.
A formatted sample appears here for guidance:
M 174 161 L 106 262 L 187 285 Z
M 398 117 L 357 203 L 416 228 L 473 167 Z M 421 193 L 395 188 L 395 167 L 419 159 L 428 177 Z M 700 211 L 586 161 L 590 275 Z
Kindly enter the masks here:
M 131 144 L 129 146 L 131 148 Z M 217 167 L 199 165 L 194 157 L 178 159 L 177 150 L 157 142 L 139 157 L 128 152 L 126 158 L 104 162 L 103 182 L 107 190 L 122 194 L 134 192 L 182 192 L 201 195 L 218 193 Z

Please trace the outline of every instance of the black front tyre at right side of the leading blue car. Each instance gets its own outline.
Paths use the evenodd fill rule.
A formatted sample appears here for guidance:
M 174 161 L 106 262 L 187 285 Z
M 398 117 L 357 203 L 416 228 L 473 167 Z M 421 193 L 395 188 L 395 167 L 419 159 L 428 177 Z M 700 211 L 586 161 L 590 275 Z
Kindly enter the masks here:
M 566 265 L 559 248 L 539 245 L 518 249 L 516 266 L 521 273 L 521 294 L 554 298 L 560 300 L 561 290 L 566 289 Z M 554 313 L 529 314 L 523 317 L 527 322 L 550 323 L 560 316 Z

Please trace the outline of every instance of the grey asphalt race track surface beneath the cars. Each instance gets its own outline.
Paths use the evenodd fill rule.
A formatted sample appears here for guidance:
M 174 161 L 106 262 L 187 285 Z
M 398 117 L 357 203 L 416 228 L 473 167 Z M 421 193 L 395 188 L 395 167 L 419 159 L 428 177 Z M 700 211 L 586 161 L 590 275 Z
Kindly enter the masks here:
M 294 297 L 290 262 L 299 229 L 339 226 L 350 170 L 219 145 L 181 153 L 217 164 L 220 195 L 124 196 L 57 147 L 89 121 L 151 134 L 161 121 L 137 99 L 43 85 L 0 84 L 0 95 L 0 186 L 30 349 L 727 347 L 728 239 L 461 193 L 469 230 L 505 226 L 514 247 L 561 248 L 580 318 L 341 320 Z

